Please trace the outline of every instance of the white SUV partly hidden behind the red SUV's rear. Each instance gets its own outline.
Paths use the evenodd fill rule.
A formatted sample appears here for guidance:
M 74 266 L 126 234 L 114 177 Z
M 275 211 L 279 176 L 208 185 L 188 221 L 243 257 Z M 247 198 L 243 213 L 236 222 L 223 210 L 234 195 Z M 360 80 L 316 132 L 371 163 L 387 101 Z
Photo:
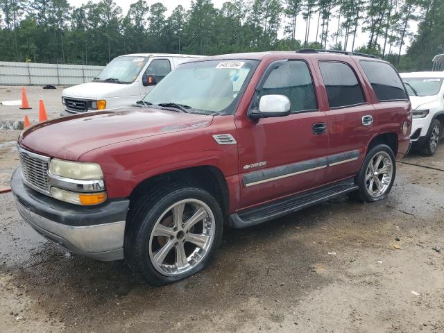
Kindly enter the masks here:
M 411 100 L 412 148 L 424 155 L 436 152 L 444 127 L 444 71 L 400 74 Z

